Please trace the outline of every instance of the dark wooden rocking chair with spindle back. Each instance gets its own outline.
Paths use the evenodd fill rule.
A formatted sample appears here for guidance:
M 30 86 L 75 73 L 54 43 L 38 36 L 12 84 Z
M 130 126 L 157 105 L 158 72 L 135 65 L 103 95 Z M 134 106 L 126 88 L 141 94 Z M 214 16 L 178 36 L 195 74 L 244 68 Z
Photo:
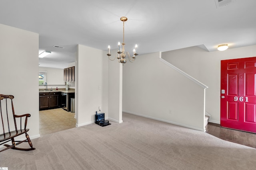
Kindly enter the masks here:
M 0 128 L 0 133 L 3 132 L 3 134 L 0 134 L 0 146 L 1 145 L 6 146 L 6 148 L 0 150 L 0 152 L 4 151 L 6 149 L 17 149 L 17 150 L 26 150 L 26 151 L 34 150 L 35 148 L 33 148 L 32 143 L 31 143 L 30 138 L 29 138 L 28 133 L 27 133 L 29 131 L 29 129 L 26 129 L 27 120 L 28 120 L 28 117 L 30 117 L 30 114 L 15 115 L 14 107 L 13 107 L 13 103 L 12 103 L 13 98 L 14 98 L 14 96 L 12 96 L 12 95 L 0 94 L 0 111 L 1 111 L 1 119 L 2 119 L 2 129 Z M 11 106 L 9 106 L 9 103 L 11 103 Z M 10 117 L 13 117 L 14 123 L 9 122 L 9 117 L 8 117 L 8 109 L 9 108 L 12 108 L 12 115 L 13 116 L 10 115 Z M 17 129 L 16 119 L 19 120 L 19 118 L 20 118 L 20 129 Z M 22 123 L 24 123 L 24 126 L 23 126 L 24 129 L 22 129 Z M 15 130 L 11 131 L 10 130 L 11 127 L 13 129 L 15 127 Z M 6 129 L 8 130 L 8 132 L 5 132 Z M 14 141 L 14 137 L 17 137 L 17 136 L 22 135 L 24 133 L 26 135 L 26 140 L 24 140 L 24 141 Z M 5 144 L 9 141 L 12 141 L 12 145 Z M 28 144 L 30 145 L 30 148 L 23 149 L 23 148 L 17 148 L 16 147 L 16 145 L 19 145 L 23 142 L 28 142 Z

